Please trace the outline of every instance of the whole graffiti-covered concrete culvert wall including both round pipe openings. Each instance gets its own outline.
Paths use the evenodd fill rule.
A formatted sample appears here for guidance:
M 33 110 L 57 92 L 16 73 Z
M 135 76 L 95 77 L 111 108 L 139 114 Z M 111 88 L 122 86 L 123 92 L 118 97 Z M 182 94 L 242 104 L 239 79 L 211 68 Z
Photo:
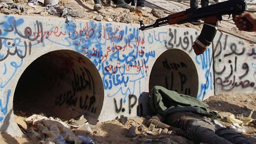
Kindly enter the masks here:
M 219 32 L 196 56 L 192 44 L 200 31 L 191 28 L 140 31 L 137 24 L 0 19 L 0 131 L 13 136 L 21 135 L 15 111 L 62 119 L 86 114 L 96 123 L 148 113 L 154 85 L 198 99 L 255 89 L 254 49 Z

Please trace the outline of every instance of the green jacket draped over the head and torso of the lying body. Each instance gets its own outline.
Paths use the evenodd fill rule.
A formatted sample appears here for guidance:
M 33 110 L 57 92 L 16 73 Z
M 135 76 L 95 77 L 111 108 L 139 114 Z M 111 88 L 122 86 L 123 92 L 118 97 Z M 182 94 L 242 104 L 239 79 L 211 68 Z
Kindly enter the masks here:
M 218 119 L 220 115 L 208 109 L 209 105 L 201 100 L 185 94 L 178 94 L 175 91 L 167 90 L 161 86 L 152 88 L 152 95 L 149 98 L 149 109 L 153 113 L 167 115 L 180 111 L 190 111 L 201 116 Z

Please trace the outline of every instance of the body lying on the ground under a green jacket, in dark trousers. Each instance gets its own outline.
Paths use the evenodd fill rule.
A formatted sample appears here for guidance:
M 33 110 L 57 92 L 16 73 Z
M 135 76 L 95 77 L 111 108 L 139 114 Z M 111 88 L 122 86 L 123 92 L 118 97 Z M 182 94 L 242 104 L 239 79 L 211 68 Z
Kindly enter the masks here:
M 193 97 L 178 94 L 161 86 L 152 89 L 149 109 L 156 113 L 148 120 L 157 128 L 174 130 L 196 143 L 207 144 L 254 144 L 250 139 L 214 122 L 218 113 Z

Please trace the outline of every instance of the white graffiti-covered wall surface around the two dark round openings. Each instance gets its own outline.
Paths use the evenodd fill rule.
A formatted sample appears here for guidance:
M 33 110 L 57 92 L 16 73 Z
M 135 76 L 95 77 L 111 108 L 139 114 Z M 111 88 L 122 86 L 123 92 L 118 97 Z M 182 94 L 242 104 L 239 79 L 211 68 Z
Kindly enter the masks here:
M 216 93 L 226 92 L 223 90 L 224 87 L 217 83 L 215 84 L 216 89 L 214 89 L 211 46 L 199 56 L 196 56 L 192 50 L 192 43 L 199 35 L 199 31 L 195 29 L 163 26 L 140 31 L 138 24 L 81 20 L 65 24 L 64 19 L 53 17 L 12 17 L 7 15 L 1 15 L 0 19 L 2 43 L 0 45 L 0 131 L 8 132 L 13 136 L 21 135 L 14 122 L 12 103 L 19 77 L 35 59 L 55 50 L 65 49 L 81 53 L 90 59 L 98 69 L 104 85 L 104 103 L 99 121 L 111 120 L 121 114 L 136 116 L 140 95 L 143 92 L 149 92 L 149 76 L 154 62 L 162 53 L 173 48 L 187 53 L 197 69 L 198 99 L 206 99 L 214 94 L 214 90 Z M 32 34 L 26 31 L 30 31 Z M 228 36 L 227 40 L 225 38 L 219 40 L 219 37 L 220 33 L 218 32 L 213 47 L 221 52 L 218 58 L 216 53 L 214 56 L 216 57 L 215 61 L 222 59 L 222 62 L 218 64 L 216 61 L 214 68 L 215 71 L 220 71 L 223 66 L 226 66 L 227 70 L 221 75 L 215 75 L 215 78 L 225 78 L 230 71 L 228 59 L 232 59 L 233 62 L 237 56 L 239 60 L 236 69 L 239 73 L 237 76 L 245 73 L 248 65 L 249 72 L 242 80 L 249 79 L 254 83 L 254 67 L 256 66 L 252 61 L 253 56 L 249 57 L 247 54 L 252 51 L 248 48 L 249 45 L 246 42 L 243 42 L 244 45 L 239 44 L 239 38 L 233 36 Z M 220 45 L 216 46 L 217 42 L 227 45 L 226 49 L 221 50 Z M 236 43 L 237 49 L 227 59 L 225 53 L 231 52 L 230 45 L 233 42 Z M 30 44 L 31 46 L 29 46 Z M 16 47 L 17 51 L 15 51 Z M 236 54 L 241 53 L 243 47 L 246 52 L 241 55 Z M 25 53 L 26 56 L 24 56 Z M 243 63 L 247 63 L 247 65 L 243 67 Z M 254 87 L 247 87 L 243 90 L 240 85 L 228 92 L 254 92 Z M 129 95 L 133 96 L 129 97 Z M 133 103 L 135 103 L 134 106 Z M 143 111 L 147 110 L 145 103 L 142 107 Z

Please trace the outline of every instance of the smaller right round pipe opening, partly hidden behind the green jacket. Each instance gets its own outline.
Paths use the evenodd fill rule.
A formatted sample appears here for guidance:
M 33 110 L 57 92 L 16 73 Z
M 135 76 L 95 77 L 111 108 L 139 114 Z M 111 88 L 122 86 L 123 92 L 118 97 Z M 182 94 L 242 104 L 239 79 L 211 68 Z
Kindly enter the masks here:
M 155 85 L 197 98 L 198 74 L 190 56 L 179 49 L 167 50 L 154 63 L 149 77 L 149 91 Z

